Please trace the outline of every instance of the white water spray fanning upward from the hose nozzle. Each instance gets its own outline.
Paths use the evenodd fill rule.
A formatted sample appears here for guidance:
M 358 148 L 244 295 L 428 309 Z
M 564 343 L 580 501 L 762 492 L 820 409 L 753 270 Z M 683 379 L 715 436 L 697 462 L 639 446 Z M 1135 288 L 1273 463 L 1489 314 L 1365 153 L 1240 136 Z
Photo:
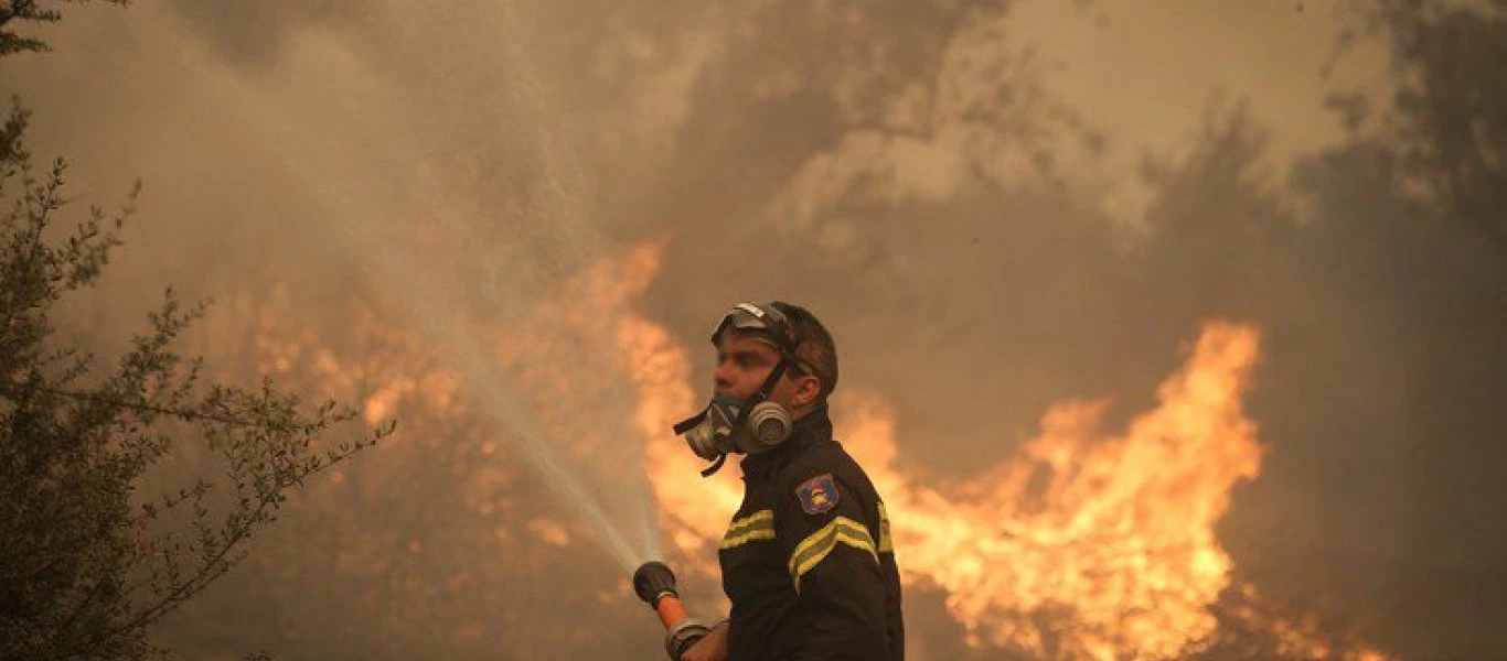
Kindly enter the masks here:
M 511 6 L 499 8 L 496 27 L 505 32 L 506 53 L 497 53 L 487 65 L 506 66 L 506 108 L 517 126 L 526 131 L 514 145 L 529 158 L 540 176 L 530 188 L 527 221 L 546 226 L 559 241 L 552 254 L 523 250 L 488 230 L 496 218 L 487 209 L 455 206 L 449 200 L 473 197 L 475 191 L 457 190 L 449 179 L 436 179 L 431 190 L 414 193 L 436 223 L 443 218 L 445 235 L 452 236 L 442 254 L 416 251 L 408 238 L 396 232 L 401 211 L 411 208 L 402 196 L 399 181 L 387 181 L 393 172 L 433 166 L 407 140 L 428 140 L 428 136 L 404 133 L 404 122 L 422 119 L 405 104 L 410 90 L 389 84 L 380 69 L 344 48 L 338 39 L 318 41 L 326 71 L 341 81 L 341 87 L 321 86 L 316 102 L 280 96 L 277 87 L 243 84 L 241 78 L 222 75 L 209 60 L 185 57 L 182 65 L 199 74 L 205 89 L 229 99 L 228 108 L 246 117 L 247 126 L 268 149 L 285 154 L 289 172 L 306 185 L 313 205 L 327 218 L 322 227 L 336 245 L 350 248 L 359 263 L 369 271 L 372 283 L 398 303 L 408 325 L 433 346 L 436 355 L 455 370 L 496 423 L 500 440 L 509 443 L 521 459 L 555 495 L 570 506 L 595 533 L 595 541 L 627 571 L 659 556 L 659 533 L 654 525 L 654 500 L 648 480 L 639 476 L 618 497 L 592 494 L 589 479 L 576 474 L 562 462 L 541 420 L 530 414 L 524 398 L 511 387 L 508 373 L 497 361 L 494 346 L 476 334 L 464 315 L 457 313 L 457 300 L 478 297 L 494 310 L 526 309 L 535 303 L 558 277 L 561 265 L 582 263 L 603 253 L 604 236 L 589 223 L 585 205 L 585 170 L 574 161 L 568 145 L 558 134 L 555 113 L 515 30 L 524 20 Z M 371 113 L 369 108 L 384 108 Z M 246 111 L 256 108 L 256 111 Z M 407 113 L 405 113 L 407 110 Z M 301 113 L 301 114 L 298 114 Z M 298 120 L 288 120 L 297 116 Z M 420 145 L 428 145 L 420 142 Z M 417 151 L 422 152 L 422 151 Z M 347 155 L 360 158 L 351 161 Z M 353 164 L 356 163 L 356 164 Z M 381 185 L 386 184 L 386 185 Z M 559 262 L 559 263 L 556 263 Z M 509 277 L 476 282 L 457 271 L 458 263 L 517 263 Z M 475 289 L 467 294 L 467 288 Z M 508 313 L 482 315 L 484 327 L 511 322 Z M 613 382 L 610 401 L 627 401 L 622 385 Z M 625 510 L 625 512 L 624 512 Z M 637 539 L 633 539 L 637 538 Z

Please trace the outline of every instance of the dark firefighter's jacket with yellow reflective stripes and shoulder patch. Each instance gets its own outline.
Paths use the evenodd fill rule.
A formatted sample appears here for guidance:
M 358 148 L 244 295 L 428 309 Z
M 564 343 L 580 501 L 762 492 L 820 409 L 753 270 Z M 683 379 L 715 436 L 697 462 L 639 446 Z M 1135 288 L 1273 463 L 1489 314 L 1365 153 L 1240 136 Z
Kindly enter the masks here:
M 832 438 L 826 408 L 743 459 L 743 506 L 720 551 L 731 661 L 900 661 L 900 574 L 889 519 Z

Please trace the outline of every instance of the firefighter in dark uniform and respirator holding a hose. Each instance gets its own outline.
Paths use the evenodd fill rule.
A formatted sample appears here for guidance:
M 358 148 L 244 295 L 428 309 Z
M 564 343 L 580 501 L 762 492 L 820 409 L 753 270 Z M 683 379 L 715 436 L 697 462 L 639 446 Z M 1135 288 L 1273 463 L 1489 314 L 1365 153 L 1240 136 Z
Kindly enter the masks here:
M 799 306 L 740 303 L 711 343 L 713 399 L 675 432 L 702 474 L 741 455 L 744 491 L 717 551 L 732 610 L 683 661 L 901 659 L 885 503 L 827 417 L 832 336 Z

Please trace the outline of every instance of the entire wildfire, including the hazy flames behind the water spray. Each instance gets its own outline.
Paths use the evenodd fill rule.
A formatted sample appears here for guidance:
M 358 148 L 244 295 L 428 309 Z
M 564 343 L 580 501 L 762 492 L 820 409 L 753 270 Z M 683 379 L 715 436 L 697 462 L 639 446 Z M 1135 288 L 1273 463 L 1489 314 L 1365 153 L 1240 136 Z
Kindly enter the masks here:
M 662 245 L 603 259 L 490 339 L 517 391 L 532 393 L 529 413 L 552 429 L 550 446 L 565 461 L 610 464 L 597 477 L 625 479 L 637 468 L 625 464 L 637 464 L 642 450 L 666 551 L 701 563 L 687 571 L 714 575 L 716 541 L 741 500 L 741 480 L 735 459 L 701 479 L 704 464 L 669 432 L 702 404 L 689 351 L 707 348 L 683 346 L 631 307 L 659 271 Z M 844 393 L 836 435 L 886 500 L 907 589 L 945 593 L 948 614 L 975 647 L 1046 659 L 1175 658 L 1233 635 L 1233 626 L 1273 638 L 1284 658 L 1388 661 L 1353 637 L 1328 635 L 1313 617 L 1282 614 L 1234 578 L 1213 533 L 1231 489 L 1261 471 L 1257 426 L 1242 410 L 1258 348 L 1255 328 L 1210 322 L 1160 384 L 1157 405 L 1124 429 L 1103 429 L 1108 401 L 1062 402 L 1017 456 L 971 479 L 937 483 L 909 468 L 882 393 Z M 600 375 L 604 355 L 616 357 L 631 382 L 624 413 L 642 441 L 627 447 L 631 456 L 610 455 L 631 446 L 607 432 L 622 420 L 607 408 L 616 407 L 613 379 L 583 378 Z M 365 375 L 318 352 L 271 360 L 332 379 Z M 363 413 L 383 417 L 404 401 L 455 413 L 463 388 L 455 375 L 417 367 L 372 372 Z M 494 450 L 487 440 L 476 455 Z M 503 468 L 467 477 L 469 507 L 497 516 L 515 509 Z M 514 551 L 527 538 L 546 553 L 589 536 L 570 521 L 523 521 L 490 535 Z

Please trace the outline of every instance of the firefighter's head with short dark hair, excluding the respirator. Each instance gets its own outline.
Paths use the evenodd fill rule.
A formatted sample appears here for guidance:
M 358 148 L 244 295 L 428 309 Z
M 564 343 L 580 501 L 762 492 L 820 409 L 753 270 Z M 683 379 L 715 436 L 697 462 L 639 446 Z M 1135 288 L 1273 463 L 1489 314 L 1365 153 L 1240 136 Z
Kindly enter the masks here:
M 716 396 L 749 401 L 784 358 L 769 401 L 800 419 L 823 407 L 838 381 L 838 352 L 821 321 L 784 301 L 738 304 L 711 336 L 717 351 Z

